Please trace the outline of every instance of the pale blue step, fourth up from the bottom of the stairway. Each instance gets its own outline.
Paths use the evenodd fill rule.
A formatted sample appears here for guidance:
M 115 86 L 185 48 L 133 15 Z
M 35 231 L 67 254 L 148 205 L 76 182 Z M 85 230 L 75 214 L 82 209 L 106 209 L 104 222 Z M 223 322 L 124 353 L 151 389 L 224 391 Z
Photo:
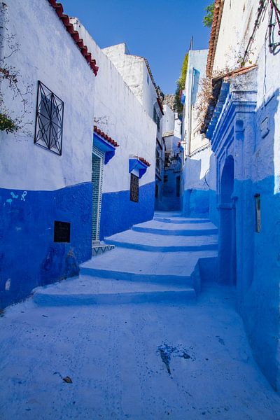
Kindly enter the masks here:
M 155 233 L 156 235 L 174 236 L 202 236 L 216 235 L 218 229 L 213 223 L 165 223 L 162 221 L 148 221 L 132 226 L 136 232 Z

